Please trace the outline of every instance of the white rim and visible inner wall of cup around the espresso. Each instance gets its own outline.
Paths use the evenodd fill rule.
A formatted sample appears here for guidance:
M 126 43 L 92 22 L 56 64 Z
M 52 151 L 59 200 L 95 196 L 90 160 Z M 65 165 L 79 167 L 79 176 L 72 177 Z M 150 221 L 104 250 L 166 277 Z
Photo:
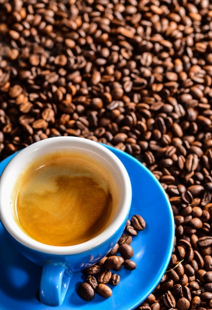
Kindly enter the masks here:
M 81 244 L 65 247 L 50 246 L 40 243 L 26 235 L 17 225 L 11 207 L 11 195 L 14 185 L 26 166 L 38 156 L 46 155 L 58 150 L 74 150 L 86 153 L 105 165 L 110 171 L 118 189 L 118 206 L 112 221 L 106 229 L 93 239 Z M 78 137 L 53 137 L 36 142 L 15 155 L 7 164 L 0 177 L 0 220 L 8 233 L 19 243 L 36 251 L 70 255 L 88 251 L 105 243 L 126 222 L 132 199 L 132 189 L 129 175 L 120 159 L 105 146 Z

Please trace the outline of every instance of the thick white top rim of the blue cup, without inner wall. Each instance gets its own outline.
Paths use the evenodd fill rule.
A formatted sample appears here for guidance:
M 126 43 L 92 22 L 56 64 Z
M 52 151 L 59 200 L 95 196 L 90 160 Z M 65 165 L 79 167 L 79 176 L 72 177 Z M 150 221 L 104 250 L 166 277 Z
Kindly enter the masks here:
M 83 140 L 82 140 L 83 139 Z M 117 173 L 122 178 L 122 200 L 123 205 L 122 208 L 119 210 L 115 217 L 111 221 L 111 223 L 106 227 L 106 229 L 100 233 L 98 236 L 94 237 L 93 239 L 86 241 L 81 244 L 73 245 L 73 246 L 52 246 L 40 243 L 28 235 L 26 235 L 20 227 L 15 222 L 11 208 L 5 208 L 4 205 L 4 194 L 5 194 L 5 187 L 9 182 L 9 178 L 11 179 L 11 171 L 15 169 L 17 164 L 23 164 L 24 158 L 27 160 L 29 155 L 32 152 L 36 152 L 38 149 L 41 149 L 45 146 L 50 147 L 54 143 L 58 145 L 63 145 L 64 143 L 75 143 L 78 145 L 86 146 L 97 152 L 100 155 L 106 156 L 110 160 L 110 163 L 116 167 Z M 53 254 L 53 255 L 71 255 L 71 254 L 79 254 L 82 252 L 89 251 L 90 249 L 96 248 L 101 244 L 105 243 L 109 240 L 117 231 L 117 229 L 126 221 L 130 207 L 131 207 L 131 200 L 132 200 L 132 187 L 128 172 L 121 162 L 121 160 L 114 155 L 109 149 L 107 149 L 104 145 L 94 142 L 92 140 L 81 138 L 81 137 L 52 137 L 45 140 L 41 140 L 39 142 L 33 143 L 32 145 L 28 146 L 27 148 L 20 151 L 17 155 L 15 155 L 12 160 L 7 164 L 5 169 L 3 170 L 0 176 L 0 220 L 2 225 L 8 231 L 8 233 L 19 243 L 26 246 L 27 248 L 31 248 L 35 251 L 43 252 L 46 254 Z M 9 210 L 8 210 L 9 209 Z

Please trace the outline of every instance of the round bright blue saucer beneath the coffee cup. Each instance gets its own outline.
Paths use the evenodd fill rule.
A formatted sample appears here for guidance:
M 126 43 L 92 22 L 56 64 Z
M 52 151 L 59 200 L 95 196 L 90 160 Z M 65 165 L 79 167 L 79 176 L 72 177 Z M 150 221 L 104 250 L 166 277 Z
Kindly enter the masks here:
M 132 247 L 137 268 L 122 268 L 120 283 L 112 287 L 112 296 L 98 294 L 91 302 L 77 295 L 81 272 L 74 274 L 61 310 L 130 310 L 142 303 L 158 285 L 171 258 L 174 244 L 174 219 L 166 193 L 156 177 L 137 159 L 108 147 L 125 165 L 132 182 L 130 217 L 140 214 L 146 228 L 134 237 Z M 0 162 L 0 174 L 14 155 Z M 24 258 L 13 246 L 0 224 L 0 310 L 48 310 L 36 298 L 42 269 Z

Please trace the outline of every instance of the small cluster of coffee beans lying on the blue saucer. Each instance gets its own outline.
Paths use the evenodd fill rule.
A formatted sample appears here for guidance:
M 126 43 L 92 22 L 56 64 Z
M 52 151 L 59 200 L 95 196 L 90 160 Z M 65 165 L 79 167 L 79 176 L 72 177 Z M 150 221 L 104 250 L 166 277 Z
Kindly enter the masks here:
M 81 283 L 78 288 L 79 296 L 82 299 L 91 301 L 95 293 L 105 298 L 110 297 L 112 295 L 110 286 L 116 286 L 120 281 L 120 275 L 117 272 L 122 267 L 128 270 L 136 268 L 136 262 L 131 259 L 134 256 L 131 246 L 132 238 L 145 227 L 146 222 L 139 214 L 135 214 L 131 220 L 127 220 L 124 233 L 107 256 L 97 264 L 85 269 L 86 281 Z

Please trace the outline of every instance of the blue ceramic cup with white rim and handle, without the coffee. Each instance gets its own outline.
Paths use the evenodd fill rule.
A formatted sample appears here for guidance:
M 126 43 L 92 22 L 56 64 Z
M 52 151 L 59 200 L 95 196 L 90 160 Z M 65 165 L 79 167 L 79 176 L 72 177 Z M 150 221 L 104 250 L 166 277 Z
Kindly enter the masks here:
M 11 206 L 14 187 L 27 165 L 40 156 L 63 150 L 88 155 L 97 166 L 100 162 L 100 166 L 104 166 L 111 176 L 118 194 L 117 207 L 113 208 L 114 215 L 106 228 L 92 239 L 71 246 L 49 245 L 31 238 L 17 224 Z M 30 145 L 12 158 L 0 177 L 0 220 L 17 250 L 43 266 L 40 298 L 44 304 L 61 305 L 71 274 L 96 263 L 112 249 L 123 233 L 131 200 L 131 182 L 124 165 L 116 155 L 97 142 L 78 137 L 48 138 Z

